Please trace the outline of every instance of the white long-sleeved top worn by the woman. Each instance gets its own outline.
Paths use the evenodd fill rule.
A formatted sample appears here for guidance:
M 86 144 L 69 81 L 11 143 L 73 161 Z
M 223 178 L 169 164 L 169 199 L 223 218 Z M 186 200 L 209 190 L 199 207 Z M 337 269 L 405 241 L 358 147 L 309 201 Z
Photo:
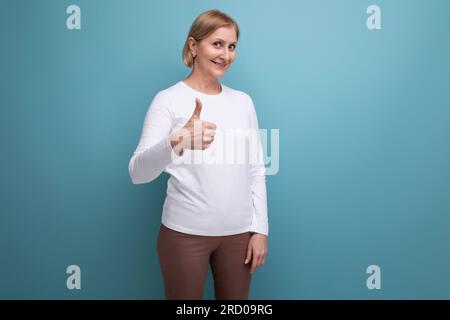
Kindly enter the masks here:
M 142 184 L 163 171 L 170 175 L 161 219 L 168 228 L 205 236 L 247 231 L 268 235 L 260 136 L 257 161 L 249 160 L 250 154 L 255 153 L 249 151 L 242 163 L 232 161 L 232 150 L 237 149 L 230 148 L 227 135 L 238 132 L 236 129 L 258 132 L 255 107 L 246 93 L 221 86 L 222 91 L 216 95 L 197 91 L 183 81 L 159 91 L 147 110 L 139 144 L 130 159 L 130 177 L 134 184 Z M 170 145 L 170 134 L 192 116 L 196 97 L 203 106 L 200 119 L 216 124 L 216 136 L 209 148 L 185 149 L 179 157 Z M 242 142 L 244 136 L 236 137 Z M 245 141 L 248 145 L 249 139 Z M 221 158 L 220 154 L 224 156 Z M 206 162 L 207 156 L 215 160 Z M 201 157 L 205 157 L 204 161 L 195 162 Z

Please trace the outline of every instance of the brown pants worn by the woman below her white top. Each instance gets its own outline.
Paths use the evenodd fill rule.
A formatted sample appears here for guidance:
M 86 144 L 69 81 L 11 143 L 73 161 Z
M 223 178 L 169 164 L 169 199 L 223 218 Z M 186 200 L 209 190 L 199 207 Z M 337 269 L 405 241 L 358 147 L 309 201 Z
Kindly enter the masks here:
M 211 263 L 215 298 L 247 300 L 251 274 L 244 260 L 250 236 L 199 236 L 161 224 L 157 251 L 166 299 L 203 299 Z

